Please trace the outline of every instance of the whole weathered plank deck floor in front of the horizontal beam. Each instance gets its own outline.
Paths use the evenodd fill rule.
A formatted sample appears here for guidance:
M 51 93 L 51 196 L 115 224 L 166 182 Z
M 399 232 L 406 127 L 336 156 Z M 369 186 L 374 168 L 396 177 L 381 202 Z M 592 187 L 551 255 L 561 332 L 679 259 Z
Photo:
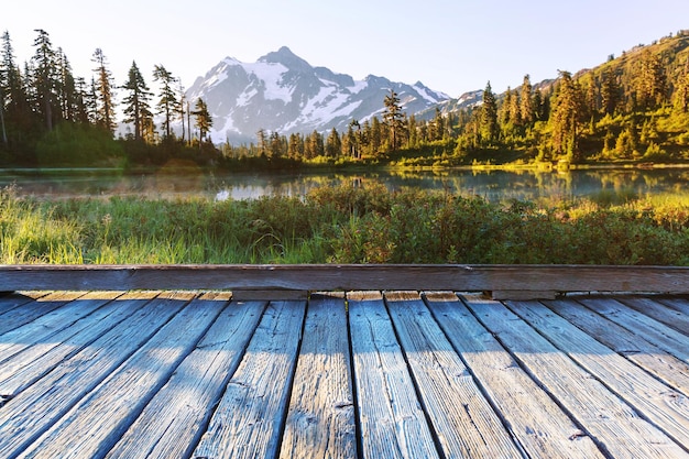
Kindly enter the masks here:
M 0 457 L 685 458 L 689 298 L 0 297 Z

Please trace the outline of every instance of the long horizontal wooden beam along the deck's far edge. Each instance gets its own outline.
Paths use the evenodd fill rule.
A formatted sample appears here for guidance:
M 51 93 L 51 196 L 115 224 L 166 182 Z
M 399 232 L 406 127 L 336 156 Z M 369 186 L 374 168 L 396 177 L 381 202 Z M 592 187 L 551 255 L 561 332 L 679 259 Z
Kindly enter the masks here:
M 0 291 L 689 293 L 689 267 L 461 264 L 0 265 Z

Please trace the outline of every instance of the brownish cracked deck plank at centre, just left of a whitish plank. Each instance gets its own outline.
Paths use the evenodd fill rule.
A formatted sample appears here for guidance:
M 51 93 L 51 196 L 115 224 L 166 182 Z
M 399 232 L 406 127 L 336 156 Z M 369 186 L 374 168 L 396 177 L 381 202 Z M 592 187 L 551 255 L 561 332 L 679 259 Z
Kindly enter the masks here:
M 294 376 L 280 457 L 356 458 L 344 296 L 314 295 Z

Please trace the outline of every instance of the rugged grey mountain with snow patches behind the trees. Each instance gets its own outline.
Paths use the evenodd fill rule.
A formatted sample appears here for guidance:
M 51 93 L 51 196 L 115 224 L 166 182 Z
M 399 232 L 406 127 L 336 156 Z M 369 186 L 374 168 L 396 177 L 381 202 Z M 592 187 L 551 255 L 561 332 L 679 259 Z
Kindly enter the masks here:
M 253 64 L 227 57 L 187 90 L 192 105 L 201 98 L 212 117 L 214 142 L 253 141 L 259 130 L 289 134 L 343 132 L 356 119 L 363 122 L 383 112 L 390 90 L 403 111 L 413 114 L 449 100 L 420 81 L 394 83 L 369 75 L 362 81 L 311 67 L 289 48 L 269 53 Z

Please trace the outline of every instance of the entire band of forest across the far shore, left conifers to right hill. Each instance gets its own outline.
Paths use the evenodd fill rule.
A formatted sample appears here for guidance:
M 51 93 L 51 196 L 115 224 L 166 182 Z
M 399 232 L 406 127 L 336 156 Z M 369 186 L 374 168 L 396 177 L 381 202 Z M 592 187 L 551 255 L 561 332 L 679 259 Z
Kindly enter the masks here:
M 129 75 L 113 77 L 101 50 L 92 55 L 92 75 L 73 75 L 63 50 L 42 30 L 23 67 L 8 32 L 1 45 L 0 166 L 160 165 L 171 159 L 255 167 L 689 159 L 689 31 L 610 55 L 593 69 L 559 70 L 555 81 L 533 83 L 527 75 L 499 95 L 488 83 L 481 102 L 441 105 L 430 119 L 402 112 L 400 95 L 391 90 L 380 119 L 352 119 L 343 132 L 287 136 L 260 130 L 255 143 L 243 145 L 212 145 L 206 102 L 185 100 L 181 81 L 163 65 L 147 74 L 151 89 L 135 63 Z M 175 123 L 181 131 L 172 129 Z

